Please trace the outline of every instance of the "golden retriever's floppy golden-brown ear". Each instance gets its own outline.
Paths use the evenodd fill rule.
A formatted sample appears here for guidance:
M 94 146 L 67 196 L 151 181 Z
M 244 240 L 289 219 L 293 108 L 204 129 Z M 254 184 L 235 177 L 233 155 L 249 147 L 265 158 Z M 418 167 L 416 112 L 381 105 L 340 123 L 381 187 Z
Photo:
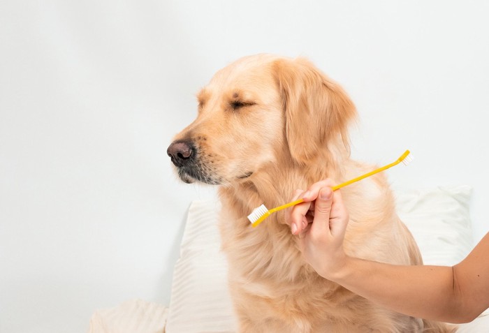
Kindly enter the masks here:
M 348 150 L 348 125 L 356 109 L 344 90 L 305 59 L 280 59 L 273 70 L 292 158 L 306 164 L 332 140 Z

